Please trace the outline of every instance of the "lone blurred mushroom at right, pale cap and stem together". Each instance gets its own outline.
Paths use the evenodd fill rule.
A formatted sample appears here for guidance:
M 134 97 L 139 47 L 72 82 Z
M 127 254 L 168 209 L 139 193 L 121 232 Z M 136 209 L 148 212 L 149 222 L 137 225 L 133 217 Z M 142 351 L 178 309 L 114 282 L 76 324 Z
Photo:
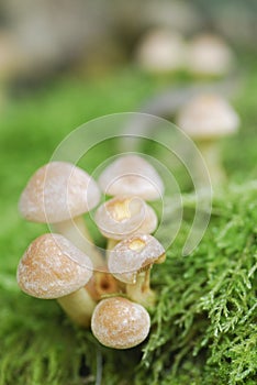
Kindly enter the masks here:
M 199 95 L 181 108 L 177 124 L 198 145 L 211 182 L 222 183 L 225 173 L 221 166 L 217 140 L 235 133 L 239 124 L 239 118 L 232 106 L 217 95 Z

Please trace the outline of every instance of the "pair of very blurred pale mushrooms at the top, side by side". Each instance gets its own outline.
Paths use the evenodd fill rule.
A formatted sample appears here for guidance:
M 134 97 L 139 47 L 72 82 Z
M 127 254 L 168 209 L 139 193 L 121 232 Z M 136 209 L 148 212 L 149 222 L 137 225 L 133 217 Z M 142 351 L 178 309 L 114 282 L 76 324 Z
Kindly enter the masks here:
M 201 77 L 222 77 L 235 67 L 235 57 L 222 36 L 199 33 L 186 40 L 178 31 L 153 28 L 138 42 L 135 61 L 153 74 L 186 70 Z

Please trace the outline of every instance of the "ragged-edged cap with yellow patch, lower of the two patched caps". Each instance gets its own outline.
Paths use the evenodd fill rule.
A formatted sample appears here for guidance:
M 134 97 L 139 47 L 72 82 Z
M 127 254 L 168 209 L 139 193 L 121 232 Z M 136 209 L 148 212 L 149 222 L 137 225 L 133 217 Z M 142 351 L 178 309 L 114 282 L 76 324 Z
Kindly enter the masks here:
M 125 284 L 135 284 L 139 272 L 160 263 L 165 250 L 156 238 L 137 234 L 115 245 L 110 251 L 108 266 L 114 277 Z

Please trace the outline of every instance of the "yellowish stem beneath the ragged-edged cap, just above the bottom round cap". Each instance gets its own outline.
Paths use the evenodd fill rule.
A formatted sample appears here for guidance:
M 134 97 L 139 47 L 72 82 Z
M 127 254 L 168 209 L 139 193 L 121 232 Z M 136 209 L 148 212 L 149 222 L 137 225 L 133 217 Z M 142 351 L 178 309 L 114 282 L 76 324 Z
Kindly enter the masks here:
M 150 267 L 145 272 L 137 274 L 135 284 L 126 284 L 126 294 L 131 300 L 134 300 L 148 308 L 155 304 L 155 293 L 150 289 Z

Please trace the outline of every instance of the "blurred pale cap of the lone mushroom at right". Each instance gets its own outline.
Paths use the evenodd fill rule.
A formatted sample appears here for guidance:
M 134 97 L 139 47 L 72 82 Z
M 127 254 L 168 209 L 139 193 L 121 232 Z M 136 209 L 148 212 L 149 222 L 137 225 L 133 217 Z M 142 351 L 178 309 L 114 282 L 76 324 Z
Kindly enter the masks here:
M 177 124 L 192 139 L 211 140 L 236 132 L 239 118 L 222 97 L 200 95 L 179 111 Z

